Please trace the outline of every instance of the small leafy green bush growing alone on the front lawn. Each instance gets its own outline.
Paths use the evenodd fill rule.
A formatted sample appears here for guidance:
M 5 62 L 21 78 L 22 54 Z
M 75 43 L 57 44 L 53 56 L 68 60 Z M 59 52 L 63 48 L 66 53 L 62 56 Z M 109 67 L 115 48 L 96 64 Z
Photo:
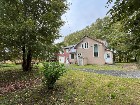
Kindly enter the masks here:
M 59 64 L 58 62 L 45 62 L 43 66 L 45 76 L 43 82 L 48 89 L 52 89 L 56 80 L 66 72 L 66 68 L 64 64 Z

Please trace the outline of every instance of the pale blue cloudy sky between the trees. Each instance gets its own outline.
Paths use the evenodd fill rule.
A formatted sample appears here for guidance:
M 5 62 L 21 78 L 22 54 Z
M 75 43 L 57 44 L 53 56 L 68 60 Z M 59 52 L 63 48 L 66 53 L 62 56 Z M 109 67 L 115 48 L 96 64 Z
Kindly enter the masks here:
M 82 30 L 86 26 L 91 25 L 98 18 L 106 16 L 109 8 L 106 2 L 108 0 L 67 0 L 71 5 L 69 10 L 62 16 L 65 24 L 61 27 L 61 38 L 57 39 L 55 43 L 64 40 L 64 37 L 70 33 Z

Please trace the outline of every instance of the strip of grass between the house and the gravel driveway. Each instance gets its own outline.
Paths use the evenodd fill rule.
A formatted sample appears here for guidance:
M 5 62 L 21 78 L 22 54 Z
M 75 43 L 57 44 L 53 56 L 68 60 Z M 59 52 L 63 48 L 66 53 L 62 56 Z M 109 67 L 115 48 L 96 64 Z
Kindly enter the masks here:
M 93 69 L 93 70 L 137 70 L 135 63 L 116 63 L 114 65 L 85 65 L 78 66 L 71 64 L 68 66 L 71 69 Z

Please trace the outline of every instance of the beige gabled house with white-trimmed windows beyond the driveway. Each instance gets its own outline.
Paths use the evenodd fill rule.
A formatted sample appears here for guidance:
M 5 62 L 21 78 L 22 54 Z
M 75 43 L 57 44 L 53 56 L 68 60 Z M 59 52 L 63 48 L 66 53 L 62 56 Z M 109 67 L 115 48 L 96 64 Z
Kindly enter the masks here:
M 107 46 L 106 41 L 85 36 L 76 45 L 64 47 L 64 62 L 60 62 L 78 65 L 113 64 L 113 53 Z

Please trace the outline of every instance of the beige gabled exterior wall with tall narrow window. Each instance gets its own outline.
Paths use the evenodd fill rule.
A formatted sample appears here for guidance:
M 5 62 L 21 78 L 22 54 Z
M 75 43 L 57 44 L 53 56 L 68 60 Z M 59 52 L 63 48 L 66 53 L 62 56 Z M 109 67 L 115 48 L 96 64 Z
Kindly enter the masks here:
M 82 43 L 88 42 L 88 48 L 82 48 Z M 94 44 L 98 44 L 98 51 L 99 56 L 94 57 Z M 105 46 L 101 43 L 92 40 L 90 38 L 85 38 L 81 43 L 77 45 L 77 54 L 82 53 L 82 57 L 87 59 L 87 64 L 105 64 L 104 53 L 105 53 Z M 85 61 L 86 62 L 86 61 Z

